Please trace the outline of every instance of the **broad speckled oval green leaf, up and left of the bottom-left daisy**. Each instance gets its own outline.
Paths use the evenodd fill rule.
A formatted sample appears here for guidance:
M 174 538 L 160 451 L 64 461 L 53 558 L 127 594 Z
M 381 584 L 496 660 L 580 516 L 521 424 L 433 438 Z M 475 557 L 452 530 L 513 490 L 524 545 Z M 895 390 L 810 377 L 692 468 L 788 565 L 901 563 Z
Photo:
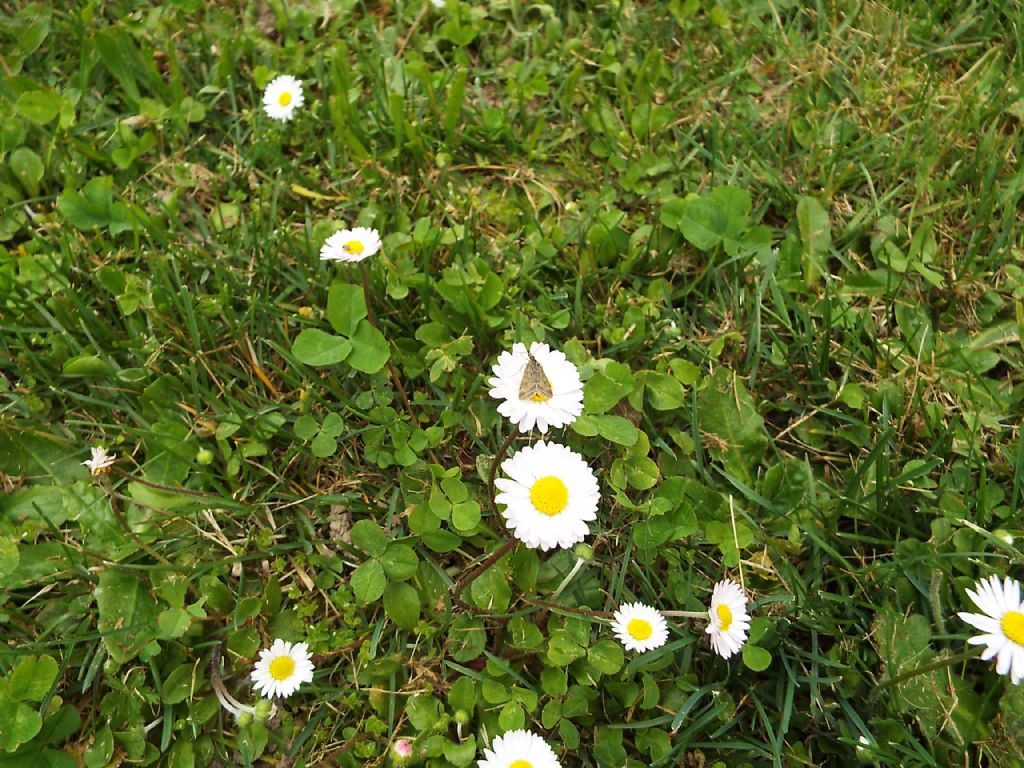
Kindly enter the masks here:
M 108 653 L 121 664 L 131 660 L 156 636 L 157 604 L 148 588 L 130 573 L 104 570 L 94 595 Z

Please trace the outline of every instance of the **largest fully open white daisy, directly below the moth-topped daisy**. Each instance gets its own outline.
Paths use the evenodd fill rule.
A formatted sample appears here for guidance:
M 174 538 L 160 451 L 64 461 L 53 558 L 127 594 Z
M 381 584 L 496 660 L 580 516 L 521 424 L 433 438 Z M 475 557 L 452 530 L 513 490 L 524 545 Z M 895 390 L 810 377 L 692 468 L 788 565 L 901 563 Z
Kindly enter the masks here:
M 571 547 L 590 532 L 601 492 L 582 456 L 541 440 L 503 461 L 502 471 L 508 477 L 495 480 L 502 492 L 495 501 L 505 505 L 505 522 L 527 547 Z

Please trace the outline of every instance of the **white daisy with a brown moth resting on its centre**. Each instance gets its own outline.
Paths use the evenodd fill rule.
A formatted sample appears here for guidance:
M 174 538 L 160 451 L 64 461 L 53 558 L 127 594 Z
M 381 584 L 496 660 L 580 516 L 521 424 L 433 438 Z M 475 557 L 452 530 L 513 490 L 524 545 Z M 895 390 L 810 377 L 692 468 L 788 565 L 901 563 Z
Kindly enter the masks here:
M 580 372 L 562 352 L 535 341 L 514 344 L 512 351 L 498 355 L 490 396 L 504 400 L 498 413 L 527 432 L 537 425 L 542 432 L 548 427 L 564 427 L 583 413 L 583 382 Z

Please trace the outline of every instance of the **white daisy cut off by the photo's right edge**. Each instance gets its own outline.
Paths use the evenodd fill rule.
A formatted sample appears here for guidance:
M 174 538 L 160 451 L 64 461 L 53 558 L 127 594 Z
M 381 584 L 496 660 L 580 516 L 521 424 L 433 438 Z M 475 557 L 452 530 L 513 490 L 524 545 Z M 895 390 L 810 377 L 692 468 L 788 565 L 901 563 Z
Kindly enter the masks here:
M 984 660 L 995 657 L 995 671 L 1010 675 L 1014 685 L 1024 680 L 1024 603 L 1020 582 L 1007 577 L 1002 584 L 996 577 L 982 579 L 976 592 L 967 594 L 983 613 L 957 613 L 983 634 L 968 639 L 971 645 L 986 645 Z

